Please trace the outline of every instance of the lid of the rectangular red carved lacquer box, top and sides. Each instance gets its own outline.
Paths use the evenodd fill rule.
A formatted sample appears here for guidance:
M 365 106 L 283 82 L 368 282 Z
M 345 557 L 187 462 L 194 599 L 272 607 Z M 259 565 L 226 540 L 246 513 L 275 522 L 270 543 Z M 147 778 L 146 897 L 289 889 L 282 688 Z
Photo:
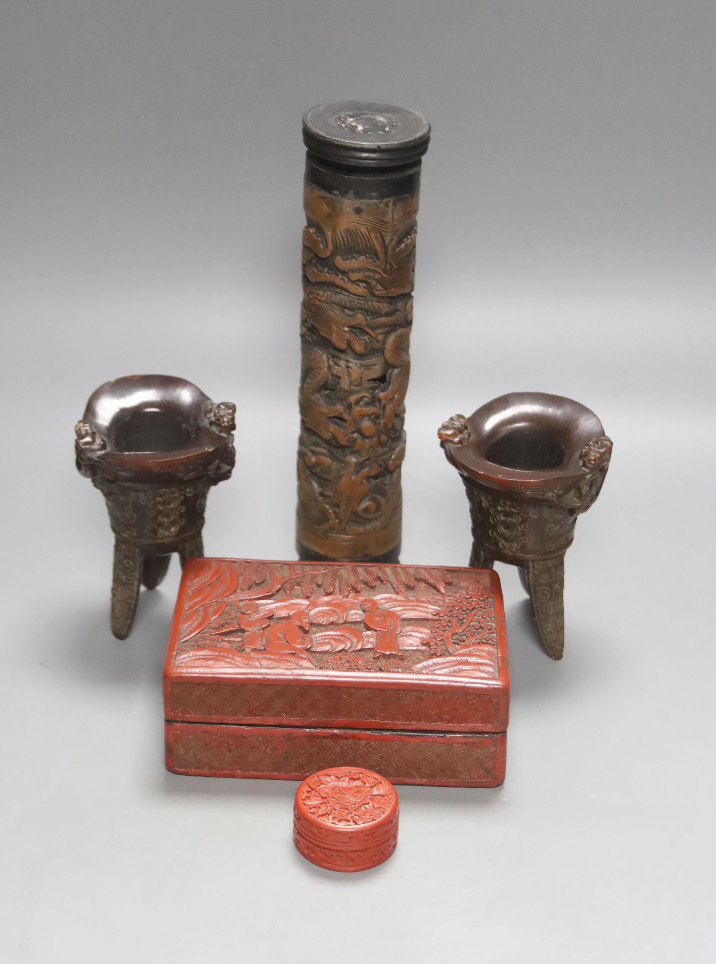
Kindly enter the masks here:
M 169 640 L 166 716 L 497 731 L 506 726 L 506 656 L 494 573 L 194 559 Z M 239 683 L 235 697 L 226 687 Z M 297 691 L 292 699 L 291 685 L 344 692 Z M 387 695 L 345 688 L 394 690 L 395 711 L 386 709 Z M 407 690 L 434 691 L 434 706 L 424 695 L 408 699 Z M 463 713 L 451 694 L 468 691 Z M 272 713 L 267 703 L 282 709 Z

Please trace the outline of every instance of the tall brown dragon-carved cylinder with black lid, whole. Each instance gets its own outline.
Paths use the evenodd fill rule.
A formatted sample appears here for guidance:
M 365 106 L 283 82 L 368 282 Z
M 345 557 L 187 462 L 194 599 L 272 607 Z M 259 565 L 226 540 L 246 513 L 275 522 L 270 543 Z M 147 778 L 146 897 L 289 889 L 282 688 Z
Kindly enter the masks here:
M 421 157 L 413 111 L 345 101 L 303 119 L 301 559 L 396 562 Z

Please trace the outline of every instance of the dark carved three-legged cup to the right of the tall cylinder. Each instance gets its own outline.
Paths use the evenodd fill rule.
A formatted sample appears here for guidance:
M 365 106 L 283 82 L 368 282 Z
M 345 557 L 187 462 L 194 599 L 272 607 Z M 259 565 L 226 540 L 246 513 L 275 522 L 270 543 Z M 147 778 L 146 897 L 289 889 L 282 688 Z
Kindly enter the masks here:
M 470 502 L 470 565 L 519 566 L 540 642 L 564 652 L 564 554 L 576 517 L 594 504 L 612 442 L 593 412 L 571 398 L 513 392 L 453 415 L 438 437 Z

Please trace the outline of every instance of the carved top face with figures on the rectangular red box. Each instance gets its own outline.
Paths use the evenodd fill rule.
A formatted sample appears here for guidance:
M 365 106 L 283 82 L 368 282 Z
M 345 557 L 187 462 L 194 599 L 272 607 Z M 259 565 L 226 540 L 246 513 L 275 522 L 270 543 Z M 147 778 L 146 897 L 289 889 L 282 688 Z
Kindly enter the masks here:
M 497 652 L 492 593 L 453 587 L 443 570 L 207 560 L 189 585 L 175 666 L 497 679 Z

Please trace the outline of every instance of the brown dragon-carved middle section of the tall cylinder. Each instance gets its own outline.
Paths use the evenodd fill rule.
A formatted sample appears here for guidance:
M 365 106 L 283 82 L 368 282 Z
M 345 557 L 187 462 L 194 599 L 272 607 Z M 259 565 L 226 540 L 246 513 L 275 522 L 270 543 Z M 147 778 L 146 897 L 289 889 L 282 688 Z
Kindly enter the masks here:
M 354 201 L 308 184 L 305 211 L 299 538 L 342 537 L 350 554 L 346 536 L 399 540 L 418 197 Z

